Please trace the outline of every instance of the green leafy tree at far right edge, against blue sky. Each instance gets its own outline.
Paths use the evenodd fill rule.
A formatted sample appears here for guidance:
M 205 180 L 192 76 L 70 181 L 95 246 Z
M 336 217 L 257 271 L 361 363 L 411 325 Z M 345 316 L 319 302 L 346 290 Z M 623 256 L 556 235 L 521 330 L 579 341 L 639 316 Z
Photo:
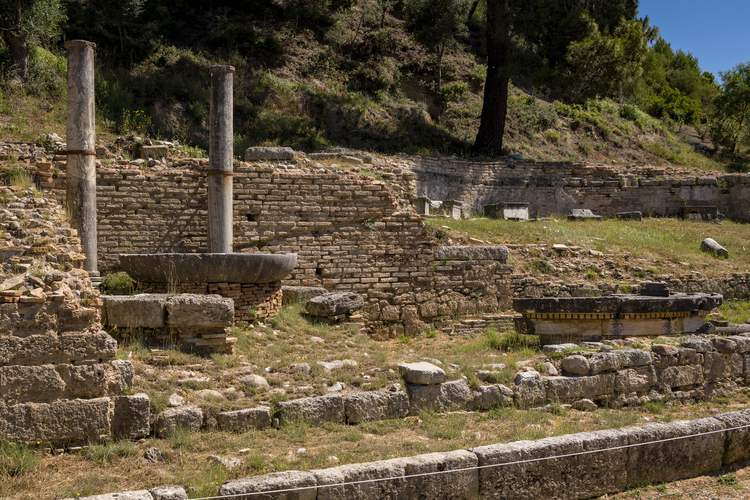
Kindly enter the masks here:
M 721 71 L 721 95 L 711 123 L 711 136 L 719 146 L 735 152 L 750 146 L 750 62 Z

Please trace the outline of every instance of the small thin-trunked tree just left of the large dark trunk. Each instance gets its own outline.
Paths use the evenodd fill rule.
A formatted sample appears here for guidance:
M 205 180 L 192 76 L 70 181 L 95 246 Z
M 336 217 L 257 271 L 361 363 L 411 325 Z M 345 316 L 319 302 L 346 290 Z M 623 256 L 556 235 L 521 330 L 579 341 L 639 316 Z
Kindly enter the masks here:
M 443 91 L 443 55 L 466 33 L 469 0 L 412 0 L 406 6 L 406 29 L 437 56 L 437 92 Z

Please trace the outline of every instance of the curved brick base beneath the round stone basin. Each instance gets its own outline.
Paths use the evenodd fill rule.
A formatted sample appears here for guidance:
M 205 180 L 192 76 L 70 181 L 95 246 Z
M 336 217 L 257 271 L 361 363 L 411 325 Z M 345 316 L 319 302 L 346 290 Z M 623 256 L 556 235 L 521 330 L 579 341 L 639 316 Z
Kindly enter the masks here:
M 272 318 L 281 311 L 281 282 L 247 283 L 179 283 L 171 290 L 167 283 L 138 283 L 143 293 L 194 293 L 220 295 L 234 301 L 234 320 L 252 322 Z

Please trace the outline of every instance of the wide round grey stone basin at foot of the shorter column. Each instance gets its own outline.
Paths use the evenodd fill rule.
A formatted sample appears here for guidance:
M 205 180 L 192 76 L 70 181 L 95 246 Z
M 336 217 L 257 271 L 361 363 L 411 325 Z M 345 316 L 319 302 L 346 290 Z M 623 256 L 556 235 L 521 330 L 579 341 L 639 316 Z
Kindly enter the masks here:
M 296 253 L 154 253 L 120 255 L 120 265 L 149 283 L 271 283 L 286 278 Z

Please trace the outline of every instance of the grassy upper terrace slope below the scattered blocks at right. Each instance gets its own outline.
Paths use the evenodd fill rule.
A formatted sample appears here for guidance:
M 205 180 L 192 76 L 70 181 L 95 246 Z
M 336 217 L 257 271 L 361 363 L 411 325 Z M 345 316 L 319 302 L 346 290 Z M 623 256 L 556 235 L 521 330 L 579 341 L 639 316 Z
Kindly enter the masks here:
M 674 218 L 643 221 L 608 220 L 606 223 L 569 221 L 515 222 L 476 217 L 428 219 L 435 227 L 450 228 L 451 239 L 481 239 L 510 245 L 510 264 L 516 272 L 547 280 L 588 280 L 636 284 L 672 274 L 696 278 L 724 277 L 750 271 L 750 225 L 724 221 L 721 225 Z M 700 250 L 713 238 L 729 251 L 729 259 Z M 562 254 L 552 245 L 573 249 Z M 603 255 L 591 255 L 591 250 Z

